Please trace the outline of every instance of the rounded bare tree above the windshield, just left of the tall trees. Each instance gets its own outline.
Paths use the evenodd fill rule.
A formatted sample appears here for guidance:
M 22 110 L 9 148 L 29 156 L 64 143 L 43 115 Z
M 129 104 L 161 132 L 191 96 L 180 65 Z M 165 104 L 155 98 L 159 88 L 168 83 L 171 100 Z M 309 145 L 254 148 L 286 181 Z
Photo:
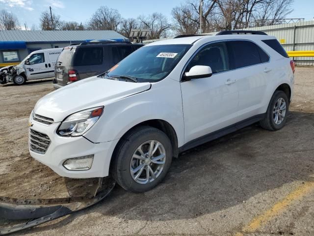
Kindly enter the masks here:
M 166 37 L 171 28 L 168 19 L 157 12 L 149 16 L 139 16 L 138 20 L 142 29 L 149 29 L 150 39 Z

